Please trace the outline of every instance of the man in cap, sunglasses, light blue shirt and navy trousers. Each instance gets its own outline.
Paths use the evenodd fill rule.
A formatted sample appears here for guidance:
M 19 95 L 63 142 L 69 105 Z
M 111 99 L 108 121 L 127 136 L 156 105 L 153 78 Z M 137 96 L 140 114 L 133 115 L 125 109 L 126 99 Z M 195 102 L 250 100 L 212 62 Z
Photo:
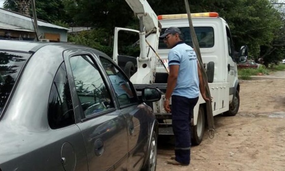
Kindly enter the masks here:
M 169 27 L 159 37 L 170 48 L 168 54 L 170 73 L 167 81 L 164 108 L 172 113 L 172 128 L 175 136 L 175 157 L 169 160 L 172 165 L 190 164 L 190 121 L 199 93 L 205 100 L 203 82 L 196 52 L 183 42 L 179 28 Z M 171 109 L 169 100 L 171 98 Z

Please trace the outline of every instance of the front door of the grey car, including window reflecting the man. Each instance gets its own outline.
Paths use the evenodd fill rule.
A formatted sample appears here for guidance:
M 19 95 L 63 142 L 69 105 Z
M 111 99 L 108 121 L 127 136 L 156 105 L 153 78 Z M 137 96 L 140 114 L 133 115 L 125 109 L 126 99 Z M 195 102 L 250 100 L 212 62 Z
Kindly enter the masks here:
M 128 171 L 139 171 L 147 151 L 149 131 L 149 108 L 138 101 L 137 93 L 132 83 L 119 67 L 105 54 L 98 54 L 106 74 L 109 77 L 117 103 L 128 125 L 129 159 Z M 110 69 L 113 67 L 113 69 Z M 123 85 L 124 84 L 124 85 Z M 124 91 L 119 86 L 125 86 Z

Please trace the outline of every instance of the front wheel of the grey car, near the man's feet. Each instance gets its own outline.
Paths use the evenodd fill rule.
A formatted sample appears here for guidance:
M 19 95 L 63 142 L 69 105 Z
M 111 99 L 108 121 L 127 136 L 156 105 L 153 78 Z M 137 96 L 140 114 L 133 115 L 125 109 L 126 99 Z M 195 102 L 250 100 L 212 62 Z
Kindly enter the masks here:
M 157 137 L 156 133 L 153 131 L 152 137 L 150 139 L 150 147 L 148 151 L 148 156 L 146 158 L 147 162 L 142 171 L 156 171 L 156 161 L 157 161 Z

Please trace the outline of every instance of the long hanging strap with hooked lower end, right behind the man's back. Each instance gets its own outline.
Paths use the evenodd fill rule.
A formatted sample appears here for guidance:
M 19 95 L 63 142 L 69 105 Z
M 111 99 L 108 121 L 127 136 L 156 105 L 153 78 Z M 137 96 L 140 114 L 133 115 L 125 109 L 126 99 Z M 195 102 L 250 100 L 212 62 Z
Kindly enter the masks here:
M 201 71 L 203 74 L 203 81 L 204 81 L 204 84 L 206 86 L 206 96 L 207 96 L 207 98 L 209 98 L 209 100 L 206 101 L 207 121 L 208 121 L 209 137 L 213 138 L 214 137 L 215 125 L 214 125 L 214 117 L 213 117 L 213 110 L 212 110 L 212 98 L 211 98 L 211 93 L 210 93 L 210 89 L 209 89 L 209 85 L 208 85 L 208 78 L 207 78 L 207 74 L 205 72 L 205 69 L 203 67 L 203 61 L 202 61 L 202 57 L 201 57 L 200 47 L 199 47 L 198 39 L 197 39 L 195 29 L 194 29 L 194 26 L 192 23 L 191 12 L 190 12 L 188 0 L 184 0 L 184 2 L 185 2 L 186 11 L 187 11 L 188 20 L 189 20 L 189 27 L 190 27 L 192 42 L 193 42 L 195 51 L 197 53 L 199 65 L 200 65 L 200 68 L 201 68 Z

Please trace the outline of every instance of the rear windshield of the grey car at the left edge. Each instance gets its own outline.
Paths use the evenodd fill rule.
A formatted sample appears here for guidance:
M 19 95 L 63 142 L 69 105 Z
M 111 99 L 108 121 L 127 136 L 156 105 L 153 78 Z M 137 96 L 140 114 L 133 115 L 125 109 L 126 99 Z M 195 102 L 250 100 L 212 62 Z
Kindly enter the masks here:
M 0 115 L 29 53 L 0 51 Z

